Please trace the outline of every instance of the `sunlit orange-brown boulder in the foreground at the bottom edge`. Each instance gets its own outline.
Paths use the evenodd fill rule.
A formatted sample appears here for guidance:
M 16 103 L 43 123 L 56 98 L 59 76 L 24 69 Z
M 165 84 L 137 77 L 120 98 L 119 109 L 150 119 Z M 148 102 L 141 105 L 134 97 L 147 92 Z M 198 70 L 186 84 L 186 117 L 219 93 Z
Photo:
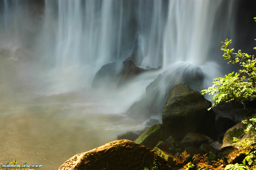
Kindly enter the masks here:
M 172 169 L 152 150 L 123 139 L 74 155 L 57 170 L 142 170 L 153 168 L 154 161 L 160 163 L 162 170 Z

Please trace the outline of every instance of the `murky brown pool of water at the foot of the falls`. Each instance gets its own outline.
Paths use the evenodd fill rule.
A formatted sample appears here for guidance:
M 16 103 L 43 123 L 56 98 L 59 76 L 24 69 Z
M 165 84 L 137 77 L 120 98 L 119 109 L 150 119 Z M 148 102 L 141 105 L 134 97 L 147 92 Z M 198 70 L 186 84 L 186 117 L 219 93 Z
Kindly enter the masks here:
M 143 128 L 118 114 L 112 92 L 37 94 L 40 86 L 27 76 L 27 64 L 1 60 L 0 67 L 0 166 L 17 159 L 20 165 L 57 169 L 75 154 Z

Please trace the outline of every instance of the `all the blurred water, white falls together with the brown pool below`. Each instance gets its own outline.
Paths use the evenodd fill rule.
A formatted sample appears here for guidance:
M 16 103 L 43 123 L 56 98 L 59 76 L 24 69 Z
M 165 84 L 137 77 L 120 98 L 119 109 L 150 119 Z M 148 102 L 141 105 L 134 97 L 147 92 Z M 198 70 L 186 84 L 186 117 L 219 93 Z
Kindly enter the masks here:
M 179 72 L 162 89 L 182 83 L 182 70 L 203 72 L 195 89 L 210 86 L 228 70 L 218 59 L 220 42 L 240 40 L 240 2 L 0 1 L 0 164 L 16 158 L 56 169 L 74 154 L 144 128 L 124 113 L 166 70 Z M 129 57 L 139 67 L 162 68 L 119 89 L 91 88 L 103 65 L 122 67 Z

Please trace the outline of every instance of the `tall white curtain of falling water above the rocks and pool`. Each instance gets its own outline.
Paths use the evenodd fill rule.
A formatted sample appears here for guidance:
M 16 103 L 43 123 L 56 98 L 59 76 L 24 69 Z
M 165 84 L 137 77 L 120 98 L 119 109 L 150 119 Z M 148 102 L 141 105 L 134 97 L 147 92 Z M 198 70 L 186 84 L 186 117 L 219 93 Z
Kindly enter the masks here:
M 77 80 L 84 79 L 79 83 L 88 86 L 101 66 L 129 57 L 139 67 L 163 66 L 164 70 L 180 61 L 198 66 L 218 63 L 220 41 L 235 38 L 238 1 L 39 2 L 40 7 L 34 8 L 37 2 L 2 1 L 0 37 L 16 39 L 19 45 L 13 50 L 20 44 L 31 45 L 39 65 L 58 70 L 56 77 L 63 79 L 65 72 L 73 70 Z M 29 12 L 32 8 L 43 12 Z

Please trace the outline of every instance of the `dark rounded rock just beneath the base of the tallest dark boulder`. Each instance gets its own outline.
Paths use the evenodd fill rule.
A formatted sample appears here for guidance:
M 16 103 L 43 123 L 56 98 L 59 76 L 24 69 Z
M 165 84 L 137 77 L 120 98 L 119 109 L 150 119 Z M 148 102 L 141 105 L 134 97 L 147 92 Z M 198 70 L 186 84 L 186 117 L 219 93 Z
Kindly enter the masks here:
M 201 144 L 207 143 L 207 138 L 195 132 L 187 133 L 179 143 L 179 148 L 183 149 L 188 146 L 199 148 Z

